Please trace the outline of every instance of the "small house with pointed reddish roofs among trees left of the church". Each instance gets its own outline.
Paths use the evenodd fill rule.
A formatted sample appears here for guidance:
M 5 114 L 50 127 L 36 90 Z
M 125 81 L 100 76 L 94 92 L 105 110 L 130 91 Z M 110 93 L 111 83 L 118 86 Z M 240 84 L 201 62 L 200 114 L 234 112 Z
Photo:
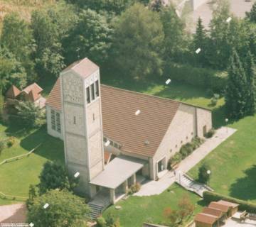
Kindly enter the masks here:
M 42 91 L 43 89 L 36 83 L 28 85 L 23 90 L 11 85 L 6 92 L 6 104 L 9 107 L 15 107 L 18 101 L 31 101 L 40 109 L 43 109 L 46 106 L 46 99 L 41 95 Z

